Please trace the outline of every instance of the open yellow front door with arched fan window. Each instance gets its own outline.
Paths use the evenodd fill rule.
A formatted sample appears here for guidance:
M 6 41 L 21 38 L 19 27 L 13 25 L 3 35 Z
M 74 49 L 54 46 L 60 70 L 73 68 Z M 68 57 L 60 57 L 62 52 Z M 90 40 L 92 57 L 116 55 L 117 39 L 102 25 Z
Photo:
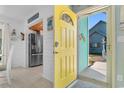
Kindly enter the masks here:
M 77 17 L 68 6 L 55 6 L 54 87 L 67 87 L 77 77 Z

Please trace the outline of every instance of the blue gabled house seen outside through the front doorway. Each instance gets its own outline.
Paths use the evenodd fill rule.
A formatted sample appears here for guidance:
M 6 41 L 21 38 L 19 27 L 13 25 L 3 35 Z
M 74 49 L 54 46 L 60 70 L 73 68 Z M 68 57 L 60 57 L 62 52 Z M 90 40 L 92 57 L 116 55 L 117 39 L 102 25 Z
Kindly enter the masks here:
M 103 39 L 106 40 L 106 22 L 99 21 L 89 30 L 90 54 L 102 54 Z

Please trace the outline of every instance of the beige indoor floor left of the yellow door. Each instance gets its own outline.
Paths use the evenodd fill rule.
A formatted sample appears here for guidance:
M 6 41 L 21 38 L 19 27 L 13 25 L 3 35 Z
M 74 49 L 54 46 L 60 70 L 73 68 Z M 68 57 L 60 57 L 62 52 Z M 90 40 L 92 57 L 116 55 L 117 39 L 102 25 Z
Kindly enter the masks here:
M 2 88 L 51 88 L 52 83 L 42 76 L 42 66 L 33 68 L 14 68 L 12 69 L 12 84 L 7 84 L 5 79 L 0 80 Z M 1 82 L 2 81 L 2 82 Z

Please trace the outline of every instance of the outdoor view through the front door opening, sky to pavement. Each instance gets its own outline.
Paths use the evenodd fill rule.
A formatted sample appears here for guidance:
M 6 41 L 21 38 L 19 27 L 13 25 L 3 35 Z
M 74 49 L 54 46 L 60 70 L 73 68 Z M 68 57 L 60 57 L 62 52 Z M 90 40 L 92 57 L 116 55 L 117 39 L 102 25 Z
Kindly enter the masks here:
M 92 75 L 93 76 L 92 78 L 104 82 L 107 82 L 106 17 L 107 17 L 106 12 L 99 12 L 88 16 L 89 31 L 88 71 L 94 73 Z

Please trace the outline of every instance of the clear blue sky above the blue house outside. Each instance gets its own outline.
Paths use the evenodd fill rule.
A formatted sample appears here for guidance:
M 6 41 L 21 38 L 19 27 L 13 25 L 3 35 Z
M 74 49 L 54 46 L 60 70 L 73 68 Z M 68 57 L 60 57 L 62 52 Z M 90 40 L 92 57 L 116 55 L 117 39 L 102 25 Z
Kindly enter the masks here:
M 106 22 L 106 14 L 105 13 L 98 13 L 98 14 L 93 14 L 93 15 L 89 16 L 88 17 L 88 29 L 92 28 L 100 20 Z

